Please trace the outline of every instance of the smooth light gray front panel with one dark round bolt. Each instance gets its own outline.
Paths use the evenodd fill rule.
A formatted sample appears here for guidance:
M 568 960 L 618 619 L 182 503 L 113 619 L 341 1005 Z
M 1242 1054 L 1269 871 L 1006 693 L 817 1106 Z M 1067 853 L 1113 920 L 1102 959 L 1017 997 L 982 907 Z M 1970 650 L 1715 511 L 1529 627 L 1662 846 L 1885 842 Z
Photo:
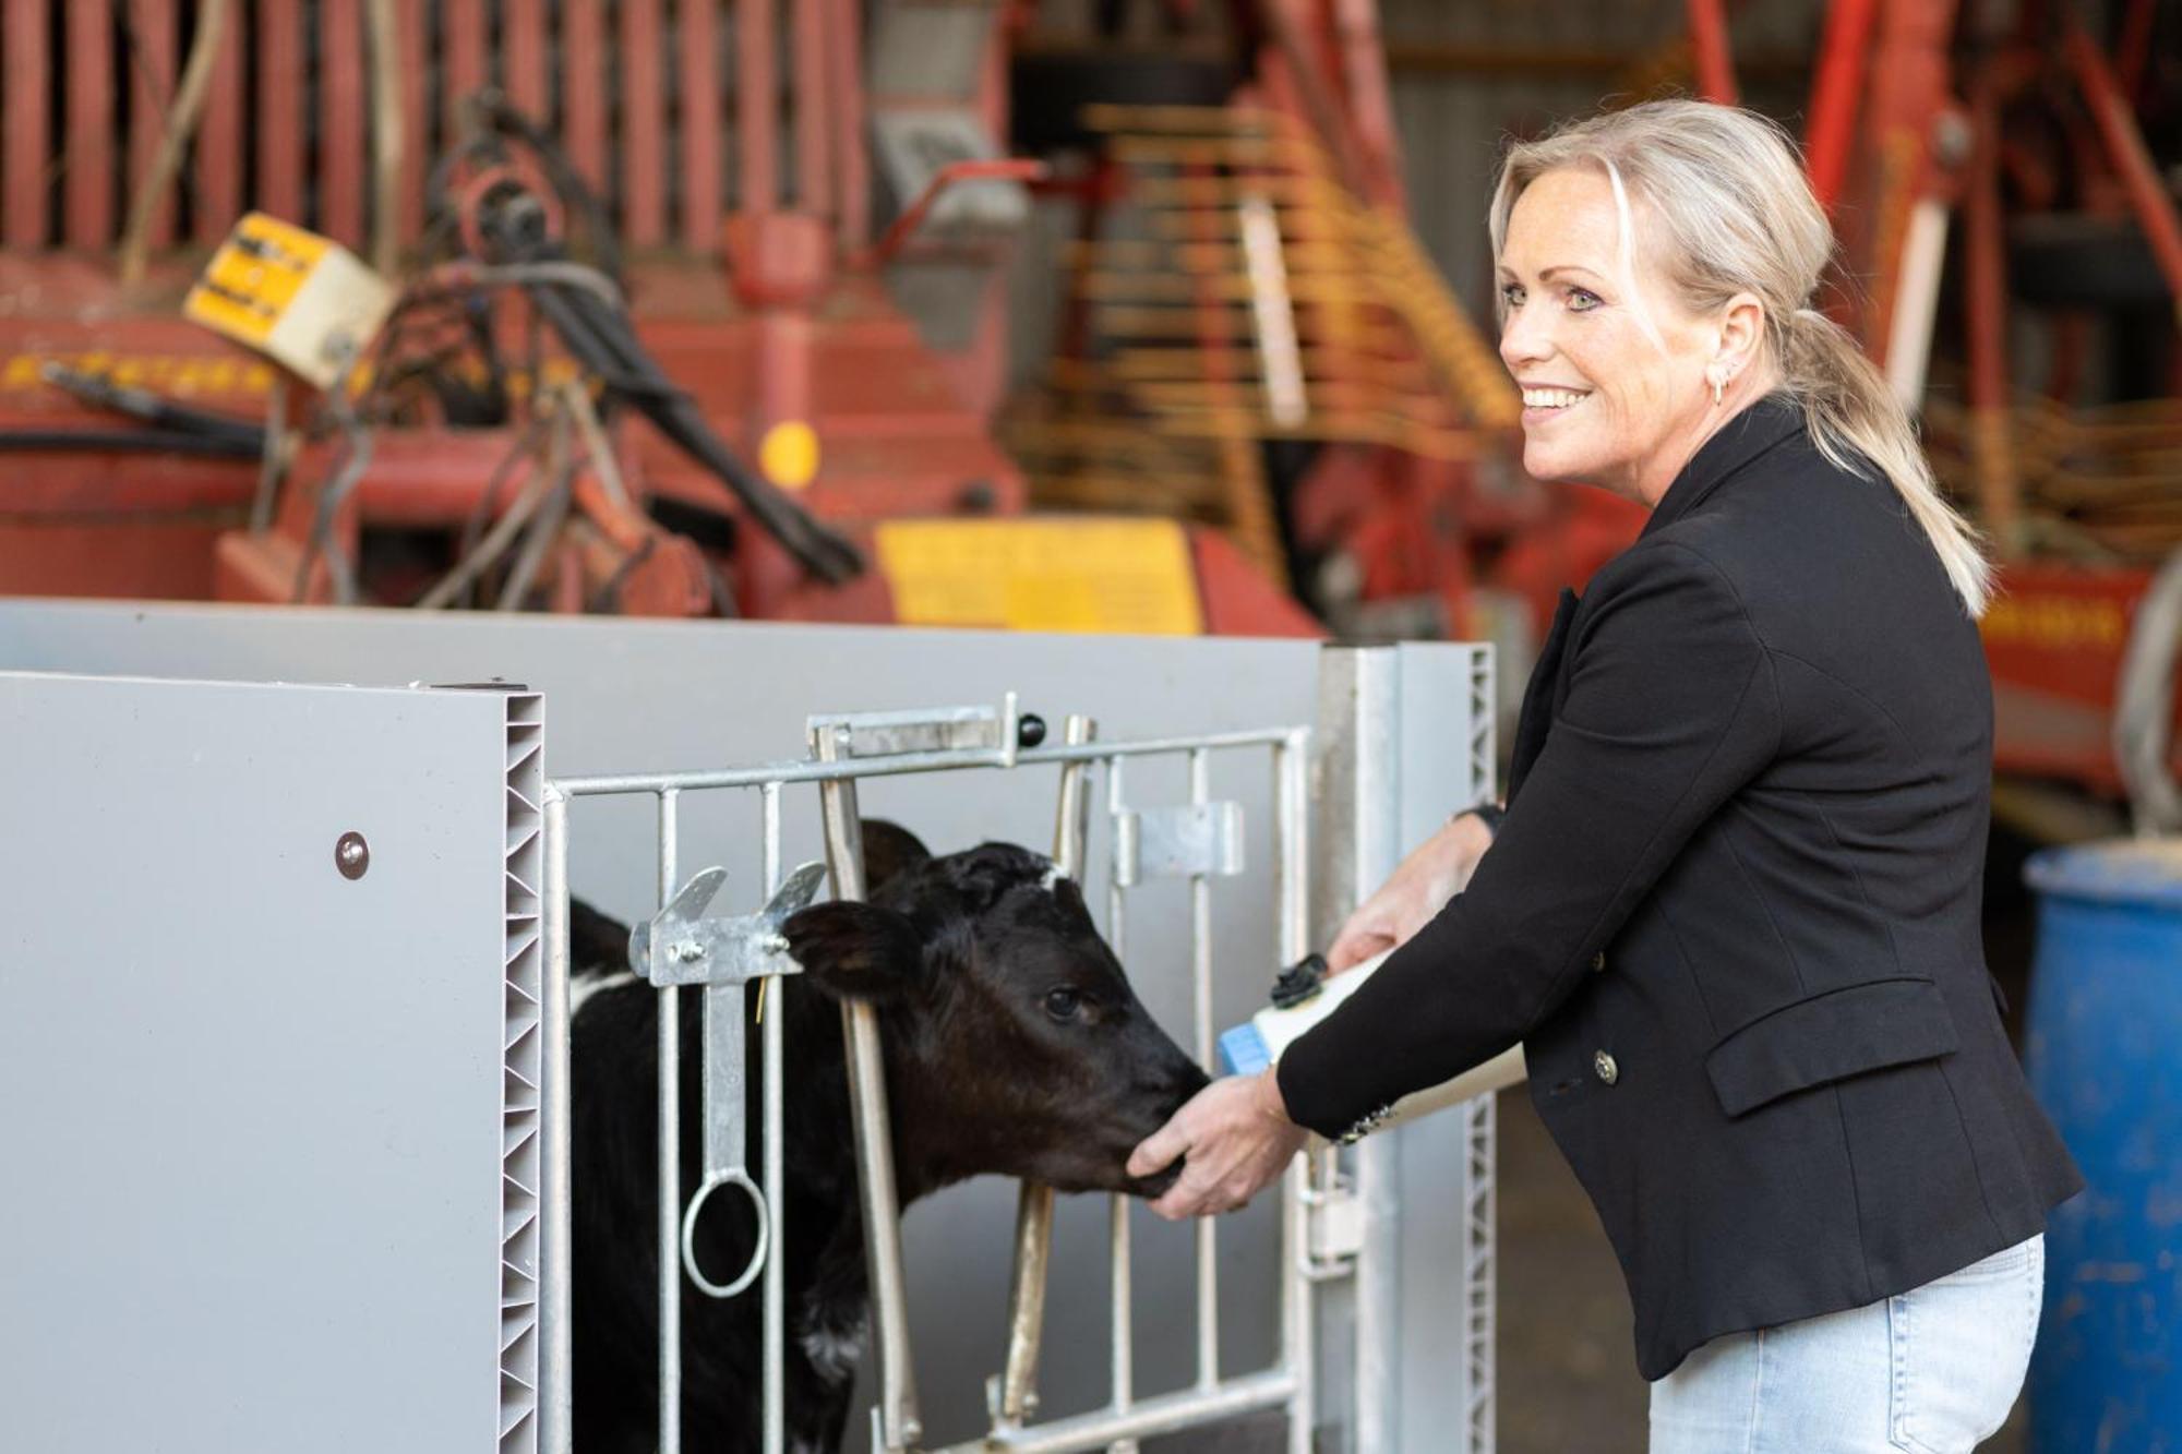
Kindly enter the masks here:
M 493 1450 L 502 696 L 0 675 L 0 725 L 9 1447 Z

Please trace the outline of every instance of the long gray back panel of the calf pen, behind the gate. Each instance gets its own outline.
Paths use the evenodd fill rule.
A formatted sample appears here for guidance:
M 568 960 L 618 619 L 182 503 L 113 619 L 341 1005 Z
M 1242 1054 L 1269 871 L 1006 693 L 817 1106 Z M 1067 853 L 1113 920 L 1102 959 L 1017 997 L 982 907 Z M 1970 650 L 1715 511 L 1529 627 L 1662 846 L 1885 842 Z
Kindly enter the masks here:
M 1416 646 L 1416 659 L 1453 681 L 1466 648 Z M 1023 710 L 1058 723 L 1098 718 L 1100 736 L 1231 731 L 1309 725 L 1318 714 L 1318 644 L 1263 640 L 1058 637 L 984 631 L 781 627 L 742 622 L 631 622 L 399 611 L 262 611 L 201 605 L 0 600 L 0 666 L 190 677 L 314 681 L 480 681 L 493 675 L 546 692 L 552 707 L 554 777 L 703 768 L 803 751 L 812 712 L 875 712 L 999 703 L 1017 690 Z M 1427 675 L 1431 675 L 1427 672 Z M 1440 812 L 1466 790 L 1464 729 L 1440 723 L 1444 760 L 1423 762 L 1410 784 L 1418 812 Z M 940 851 L 980 838 L 1045 845 L 1058 773 L 967 773 L 882 779 L 864 810 L 912 825 Z M 1189 801 L 1180 760 L 1132 766 L 1130 806 Z M 1218 753 L 1209 792 L 1237 799 L 1246 819 L 1250 878 L 1213 884 L 1218 1024 L 1263 1002 L 1279 956 L 1263 882 L 1272 851 L 1272 771 L 1263 753 Z M 1104 784 L 1093 786 L 1104 801 Z M 655 904 L 652 808 L 639 799 L 572 806 L 570 882 L 624 919 Z M 696 795 L 681 808 L 685 875 L 724 865 L 722 904 L 751 908 L 759 891 L 753 795 Z M 1106 814 L 1093 810 L 1087 884 L 1104 902 Z M 816 858 L 818 814 L 807 788 L 783 795 L 783 858 Z M 1320 934 L 1324 926 L 1320 926 Z M 1150 884 L 1130 897 L 1130 974 L 1152 1013 L 1187 1035 L 1189 886 Z M 1276 1354 L 1274 1199 L 1222 1218 L 1222 1364 L 1266 1367 Z M 982 1380 L 1006 1345 L 1006 1247 L 1015 1188 L 980 1179 L 910 1207 L 903 1242 L 919 1393 L 932 1443 L 984 1430 Z M 1098 1408 L 1106 1397 L 1106 1212 L 1093 1196 L 1065 1196 L 1054 1231 L 1054 1284 L 1039 1393 L 1047 1415 Z M 1148 1214 L 1135 1218 L 1137 1395 L 1187 1386 L 1194 1288 L 1191 1231 Z M 1427 1244 L 1423 1255 L 1438 1255 Z M 1447 1279 L 1453 1264 L 1403 1264 L 1407 1279 Z M 1460 1323 L 1423 1327 L 1414 1347 L 1455 1358 Z M 1405 1327 L 1407 1332 L 1407 1327 Z M 1434 1375 L 1438 1378 L 1438 1373 Z M 1420 1380 L 1431 1389 L 1431 1380 Z M 862 1447 L 851 1421 L 851 1447 Z M 1176 1441 L 1178 1445 L 1180 1441 Z M 1167 1445 L 1167 1447 L 1176 1447 Z M 1410 1447 L 1431 1447 L 1429 1441 Z

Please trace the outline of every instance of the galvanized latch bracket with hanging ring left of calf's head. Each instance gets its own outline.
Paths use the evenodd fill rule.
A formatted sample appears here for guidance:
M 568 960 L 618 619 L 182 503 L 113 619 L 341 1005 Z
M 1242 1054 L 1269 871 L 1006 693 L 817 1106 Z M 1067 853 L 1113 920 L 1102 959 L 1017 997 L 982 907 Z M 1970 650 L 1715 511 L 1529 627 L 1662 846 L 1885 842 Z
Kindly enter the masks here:
M 744 1142 L 744 1096 L 748 1081 L 748 1026 L 742 1022 L 742 987 L 777 974 L 799 974 L 788 956 L 781 926 L 818 897 L 823 862 L 805 862 L 755 915 L 707 919 L 705 908 L 727 882 L 727 869 L 705 869 L 661 908 L 650 923 L 628 932 L 628 963 L 659 989 L 705 987 L 705 1177 L 683 1212 L 683 1271 L 707 1297 L 735 1297 L 766 1266 L 772 1227 L 766 1199 L 751 1181 Z M 738 1188 L 757 1216 L 751 1260 L 733 1282 L 714 1282 L 696 1264 L 696 1220 L 705 1201 L 722 1185 Z

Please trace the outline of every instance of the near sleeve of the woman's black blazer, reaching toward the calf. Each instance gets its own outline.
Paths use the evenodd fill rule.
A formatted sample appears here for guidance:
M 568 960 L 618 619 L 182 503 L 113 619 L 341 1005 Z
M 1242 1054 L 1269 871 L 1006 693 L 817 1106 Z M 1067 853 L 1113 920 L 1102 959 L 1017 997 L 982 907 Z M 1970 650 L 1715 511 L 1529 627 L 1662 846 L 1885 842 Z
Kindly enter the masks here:
M 1344 1135 L 1525 1039 L 1776 755 L 1772 662 L 1711 561 L 1650 541 L 1593 592 L 1567 699 L 1468 891 L 1281 1057 L 1298 1124 Z

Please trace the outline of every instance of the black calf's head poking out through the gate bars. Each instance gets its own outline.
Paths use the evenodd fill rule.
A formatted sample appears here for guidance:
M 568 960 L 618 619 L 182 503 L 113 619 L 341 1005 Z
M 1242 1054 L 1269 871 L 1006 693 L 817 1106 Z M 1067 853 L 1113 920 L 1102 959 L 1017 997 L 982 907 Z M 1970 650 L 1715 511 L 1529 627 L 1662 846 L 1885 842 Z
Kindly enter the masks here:
M 786 923 L 816 989 L 879 1009 L 903 1179 L 980 1172 L 1159 1194 L 1130 1148 L 1204 1087 L 1052 860 L 1006 843 L 934 858 L 864 823 L 871 899 Z

